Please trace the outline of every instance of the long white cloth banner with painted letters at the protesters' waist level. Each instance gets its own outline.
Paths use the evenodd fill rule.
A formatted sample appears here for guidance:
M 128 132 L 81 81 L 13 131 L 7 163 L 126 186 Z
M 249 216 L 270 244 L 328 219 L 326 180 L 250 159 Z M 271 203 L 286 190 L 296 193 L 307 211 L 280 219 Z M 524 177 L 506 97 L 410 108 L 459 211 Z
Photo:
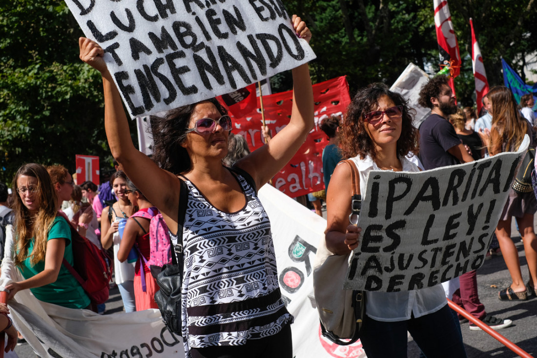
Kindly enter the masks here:
M 313 296 L 313 260 L 326 221 L 270 185 L 259 191 L 269 214 L 284 302 L 295 317 L 293 356 L 296 358 L 365 358 L 358 341 L 338 346 L 321 335 Z M 11 230 L 6 230 L 11 252 Z M 11 258 L 2 262 L 0 289 L 21 280 Z M 30 290 L 9 302 L 17 330 L 35 353 L 54 358 L 184 357 L 182 338 L 164 326 L 158 310 L 100 316 L 38 301 Z

